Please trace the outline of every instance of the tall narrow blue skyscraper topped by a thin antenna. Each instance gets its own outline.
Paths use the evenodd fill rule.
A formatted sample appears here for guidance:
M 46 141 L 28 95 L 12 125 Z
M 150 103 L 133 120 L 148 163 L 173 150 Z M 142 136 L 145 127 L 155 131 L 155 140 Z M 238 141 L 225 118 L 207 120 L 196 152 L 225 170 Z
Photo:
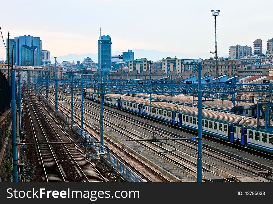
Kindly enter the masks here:
M 103 35 L 99 37 L 99 73 L 102 70 L 104 72 L 103 75 L 108 75 L 109 70 L 111 69 L 111 38 L 109 35 Z

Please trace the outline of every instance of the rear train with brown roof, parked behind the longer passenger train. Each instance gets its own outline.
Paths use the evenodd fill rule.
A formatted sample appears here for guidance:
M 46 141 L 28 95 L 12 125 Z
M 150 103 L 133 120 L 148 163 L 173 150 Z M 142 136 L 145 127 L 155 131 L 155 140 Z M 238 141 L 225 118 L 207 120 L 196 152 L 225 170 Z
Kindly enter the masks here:
M 150 94 L 140 93 L 136 95 L 140 98 L 150 98 Z M 189 95 L 175 95 L 175 96 L 167 96 L 167 95 L 157 95 L 151 94 L 151 99 L 155 101 L 163 101 L 169 103 L 175 103 L 177 105 L 185 105 L 198 107 L 197 95 L 189 96 Z M 246 102 L 238 102 L 233 104 L 232 101 L 221 100 L 221 99 L 213 99 L 202 97 L 202 108 L 212 111 L 231 113 L 235 115 L 242 115 L 248 117 L 257 117 L 257 104 L 254 103 L 246 103 Z M 260 114 L 262 115 L 262 114 Z

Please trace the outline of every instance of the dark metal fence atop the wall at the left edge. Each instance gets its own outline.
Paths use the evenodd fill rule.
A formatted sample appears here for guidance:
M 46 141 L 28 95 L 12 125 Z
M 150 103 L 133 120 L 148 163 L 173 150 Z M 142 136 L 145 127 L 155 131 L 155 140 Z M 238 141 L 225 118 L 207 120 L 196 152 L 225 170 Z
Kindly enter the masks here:
M 11 107 L 11 87 L 0 70 L 0 115 Z

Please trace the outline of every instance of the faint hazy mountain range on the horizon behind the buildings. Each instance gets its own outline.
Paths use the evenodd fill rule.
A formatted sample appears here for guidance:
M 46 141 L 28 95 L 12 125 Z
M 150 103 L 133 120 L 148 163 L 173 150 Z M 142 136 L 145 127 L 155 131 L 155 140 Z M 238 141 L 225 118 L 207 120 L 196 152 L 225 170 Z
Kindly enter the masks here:
M 112 52 L 113 55 L 122 55 L 122 52 L 126 52 L 127 50 L 120 50 L 120 51 L 114 51 Z M 152 61 L 159 61 L 162 58 L 166 57 L 172 57 L 172 58 L 181 58 L 181 59 L 207 59 L 209 57 L 212 57 L 211 53 L 197 53 L 197 54 L 190 54 L 190 53 L 180 53 L 180 52 L 161 52 L 158 50 L 143 50 L 143 49 L 135 49 L 132 50 L 135 52 L 135 59 L 140 59 L 141 57 L 145 57 Z M 224 52 L 217 52 L 219 57 L 228 57 L 229 55 Z M 62 61 L 68 60 L 69 62 L 77 61 L 79 60 L 80 63 L 83 62 L 83 59 L 85 57 L 90 57 L 93 61 L 98 63 L 98 53 L 86 53 L 86 54 L 68 54 L 64 56 L 57 57 L 57 61 L 59 63 L 62 63 Z M 55 62 L 54 57 L 50 57 L 51 63 Z

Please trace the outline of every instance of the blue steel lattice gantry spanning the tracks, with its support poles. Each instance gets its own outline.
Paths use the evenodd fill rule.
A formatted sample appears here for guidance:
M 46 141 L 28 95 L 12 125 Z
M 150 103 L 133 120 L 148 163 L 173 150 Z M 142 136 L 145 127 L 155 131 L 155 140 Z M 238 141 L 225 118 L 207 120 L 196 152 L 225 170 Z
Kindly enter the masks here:
M 198 63 L 199 66 L 199 79 L 201 79 L 201 63 Z M 272 99 L 272 91 L 273 86 L 272 84 L 235 84 L 235 82 L 231 83 L 215 83 L 215 82 L 206 82 L 202 83 L 201 80 L 198 83 L 177 83 L 177 82 L 170 82 L 170 81 L 155 81 L 155 80 L 103 80 L 102 75 L 100 80 L 91 80 L 91 79 L 83 79 L 81 76 L 81 80 L 73 79 L 49 79 L 47 76 L 47 101 L 48 101 L 48 84 L 55 83 L 55 104 L 57 108 L 57 89 L 58 84 L 69 85 L 71 88 L 71 120 L 73 122 L 73 89 L 74 88 L 81 88 L 81 95 L 82 95 L 82 111 L 81 111 L 81 126 L 83 132 L 83 89 L 84 88 L 94 88 L 94 93 L 98 93 L 101 95 L 101 146 L 103 147 L 103 96 L 106 93 L 118 93 L 118 94 L 137 94 L 137 93 L 149 93 L 149 94 L 156 94 L 156 93 L 171 93 L 171 94 L 181 94 L 181 93 L 192 93 L 198 95 L 198 120 L 202 120 L 202 94 L 203 93 L 226 93 L 226 94 L 233 94 L 232 100 L 235 102 L 235 93 L 270 93 Z M 37 90 L 37 84 L 40 87 L 43 86 L 42 81 L 35 81 L 34 89 Z M 43 90 L 39 90 L 42 92 Z M 258 107 L 260 107 L 258 105 Z M 270 110 L 271 116 L 272 114 L 272 107 L 273 105 L 266 105 L 268 110 Z M 267 110 L 267 109 L 266 109 Z M 259 113 L 259 111 L 258 111 Z M 267 116 L 267 117 L 266 117 Z M 264 118 L 269 120 L 268 114 L 266 114 Z M 273 118 L 273 117 L 272 117 Z M 258 122 L 257 122 L 258 126 Z M 265 127 L 262 128 L 272 128 L 270 123 L 268 123 Z M 197 159 L 197 182 L 202 182 L 202 124 L 198 123 L 198 159 Z

